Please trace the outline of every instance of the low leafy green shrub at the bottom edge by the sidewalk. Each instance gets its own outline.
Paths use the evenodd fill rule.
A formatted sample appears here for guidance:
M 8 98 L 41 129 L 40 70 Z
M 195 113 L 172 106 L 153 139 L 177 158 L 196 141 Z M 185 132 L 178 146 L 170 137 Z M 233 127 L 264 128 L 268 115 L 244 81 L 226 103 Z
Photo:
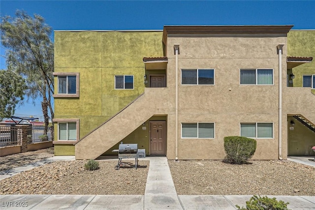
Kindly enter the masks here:
M 283 201 L 277 201 L 276 198 L 258 197 L 256 195 L 246 202 L 246 208 L 235 205 L 238 210 L 289 210 Z

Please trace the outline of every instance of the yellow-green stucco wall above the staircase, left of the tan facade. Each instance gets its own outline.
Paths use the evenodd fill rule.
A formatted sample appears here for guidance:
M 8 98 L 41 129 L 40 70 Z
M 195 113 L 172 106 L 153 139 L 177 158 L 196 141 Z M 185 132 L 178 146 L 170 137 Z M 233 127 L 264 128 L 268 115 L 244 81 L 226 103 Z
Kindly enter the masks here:
M 55 72 L 80 74 L 79 98 L 55 97 L 55 119 L 80 119 L 84 137 L 144 92 L 142 59 L 162 50 L 162 31 L 55 31 Z M 134 89 L 115 90 L 115 75 L 133 75 Z

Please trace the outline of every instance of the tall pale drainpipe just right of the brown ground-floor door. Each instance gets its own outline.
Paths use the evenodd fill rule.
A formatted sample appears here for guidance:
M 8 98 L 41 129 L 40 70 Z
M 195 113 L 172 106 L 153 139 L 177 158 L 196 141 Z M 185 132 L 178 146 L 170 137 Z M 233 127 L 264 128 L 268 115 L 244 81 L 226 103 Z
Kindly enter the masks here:
M 175 50 L 175 161 L 178 161 L 178 54 L 179 44 L 174 44 Z

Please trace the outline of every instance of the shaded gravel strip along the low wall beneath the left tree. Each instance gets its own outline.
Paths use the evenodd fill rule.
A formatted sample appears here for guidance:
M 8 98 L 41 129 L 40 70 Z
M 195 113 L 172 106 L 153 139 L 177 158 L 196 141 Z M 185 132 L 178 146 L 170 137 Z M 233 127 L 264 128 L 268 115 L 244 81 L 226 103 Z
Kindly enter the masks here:
M 54 148 L 11 154 L 0 157 L 0 171 L 12 169 L 18 166 L 41 161 L 43 158 L 53 157 Z

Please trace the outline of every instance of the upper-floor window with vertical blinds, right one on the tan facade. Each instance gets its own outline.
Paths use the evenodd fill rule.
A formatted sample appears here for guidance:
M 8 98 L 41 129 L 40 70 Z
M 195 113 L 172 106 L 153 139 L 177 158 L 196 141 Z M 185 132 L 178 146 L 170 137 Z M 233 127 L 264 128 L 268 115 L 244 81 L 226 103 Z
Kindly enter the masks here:
M 273 85 L 274 69 L 241 69 L 241 85 Z

